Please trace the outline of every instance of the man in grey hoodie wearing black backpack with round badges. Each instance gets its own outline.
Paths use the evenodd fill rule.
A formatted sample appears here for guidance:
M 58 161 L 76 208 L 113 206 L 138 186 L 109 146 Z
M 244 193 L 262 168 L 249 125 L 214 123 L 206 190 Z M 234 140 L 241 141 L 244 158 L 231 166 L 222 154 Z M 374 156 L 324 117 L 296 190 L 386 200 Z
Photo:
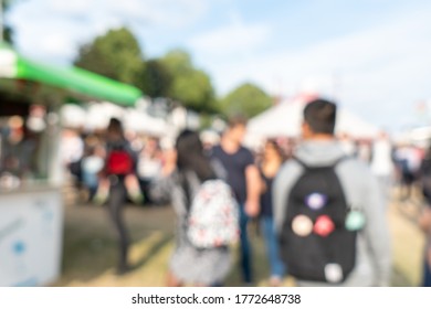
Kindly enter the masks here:
M 336 105 L 304 108 L 303 142 L 273 189 L 281 257 L 298 286 L 388 286 L 391 248 L 383 196 L 334 138 Z

